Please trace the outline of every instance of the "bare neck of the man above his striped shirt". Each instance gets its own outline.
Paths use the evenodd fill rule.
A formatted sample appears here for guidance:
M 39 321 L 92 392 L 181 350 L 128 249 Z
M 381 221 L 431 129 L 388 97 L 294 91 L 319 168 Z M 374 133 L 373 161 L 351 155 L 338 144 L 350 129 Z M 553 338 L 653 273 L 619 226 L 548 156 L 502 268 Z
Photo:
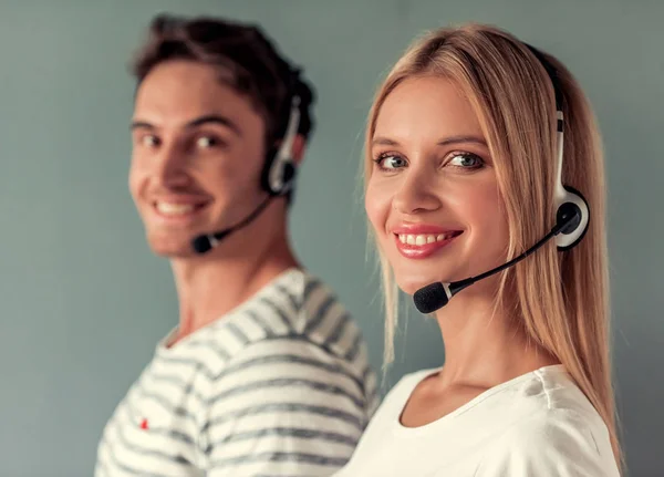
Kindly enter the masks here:
M 179 326 L 170 344 L 224 317 L 283 271 L 298 267 L 284 232 L 262 246 L 247 245 L 242 234 L 231 237 L 208 252 L 209 257 L 172 260 Z

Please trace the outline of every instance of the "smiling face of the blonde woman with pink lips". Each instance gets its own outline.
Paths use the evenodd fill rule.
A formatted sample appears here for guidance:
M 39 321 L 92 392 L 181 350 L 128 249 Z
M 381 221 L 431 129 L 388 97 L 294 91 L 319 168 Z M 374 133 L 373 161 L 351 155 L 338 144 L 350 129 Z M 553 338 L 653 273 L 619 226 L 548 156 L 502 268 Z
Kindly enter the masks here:
M 413 294 L 505 260 L 508 226 L 494 160 L 454 83 L 414 77 L 390 93 L 371 159 L 365 208 L 402 290 Z

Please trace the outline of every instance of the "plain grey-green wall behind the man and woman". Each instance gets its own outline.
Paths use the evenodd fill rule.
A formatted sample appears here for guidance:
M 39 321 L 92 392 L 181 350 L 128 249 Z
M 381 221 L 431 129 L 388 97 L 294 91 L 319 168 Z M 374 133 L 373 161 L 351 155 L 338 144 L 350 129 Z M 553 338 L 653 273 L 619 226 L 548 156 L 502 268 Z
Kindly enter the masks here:
M 292 237 L 381 365 L 382 317 L 357 194 L 374 87 L 424 29 L 496 23 L 585 87 L 608 155 L 616 392 L 633 476 L 664 463 L 664 2 L 0 1 L 0 475 L 89 476 L 102 427 L 176 320 L 126 187 L 126 62 L 158 11 L 260 22 L 319 92 Z M 323 179 L 324 178 L 324 179 Z M 411 313 L 392 384 L 443 360 Z

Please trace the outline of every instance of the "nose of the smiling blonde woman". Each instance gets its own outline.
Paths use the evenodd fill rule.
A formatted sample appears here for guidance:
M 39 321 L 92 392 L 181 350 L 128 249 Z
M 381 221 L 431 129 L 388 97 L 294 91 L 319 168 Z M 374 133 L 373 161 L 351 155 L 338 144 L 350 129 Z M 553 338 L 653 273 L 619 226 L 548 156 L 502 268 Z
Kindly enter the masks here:
M 403 179 L 392 199 L 392 207 L 401 214 L 421 214 L 440 208 L 439 190 L 436 187 L 436 173 L 415 167 L 403 175 Z M 436 194 L 438 193 L 438 194 Z

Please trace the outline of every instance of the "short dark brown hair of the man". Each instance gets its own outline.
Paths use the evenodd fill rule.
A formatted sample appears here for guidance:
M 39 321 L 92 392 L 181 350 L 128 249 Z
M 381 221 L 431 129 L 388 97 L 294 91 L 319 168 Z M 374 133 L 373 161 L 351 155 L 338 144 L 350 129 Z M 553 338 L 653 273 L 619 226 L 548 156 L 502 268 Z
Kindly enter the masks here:
M 132 63 L 137 86 L 155 66 L 169 60 L 219 68 L 225 73 L 220 81 L 246 95 L 263 116 L 268 149 L 283 137 L 291 98 L 297 94 L 300 96 L 298 132 L 309 138 L 313 128 L 310 112 L 313 90 L 258 27 L 209 17 L 185 19 L 159 14 L 153 19 L 148 38 Z

